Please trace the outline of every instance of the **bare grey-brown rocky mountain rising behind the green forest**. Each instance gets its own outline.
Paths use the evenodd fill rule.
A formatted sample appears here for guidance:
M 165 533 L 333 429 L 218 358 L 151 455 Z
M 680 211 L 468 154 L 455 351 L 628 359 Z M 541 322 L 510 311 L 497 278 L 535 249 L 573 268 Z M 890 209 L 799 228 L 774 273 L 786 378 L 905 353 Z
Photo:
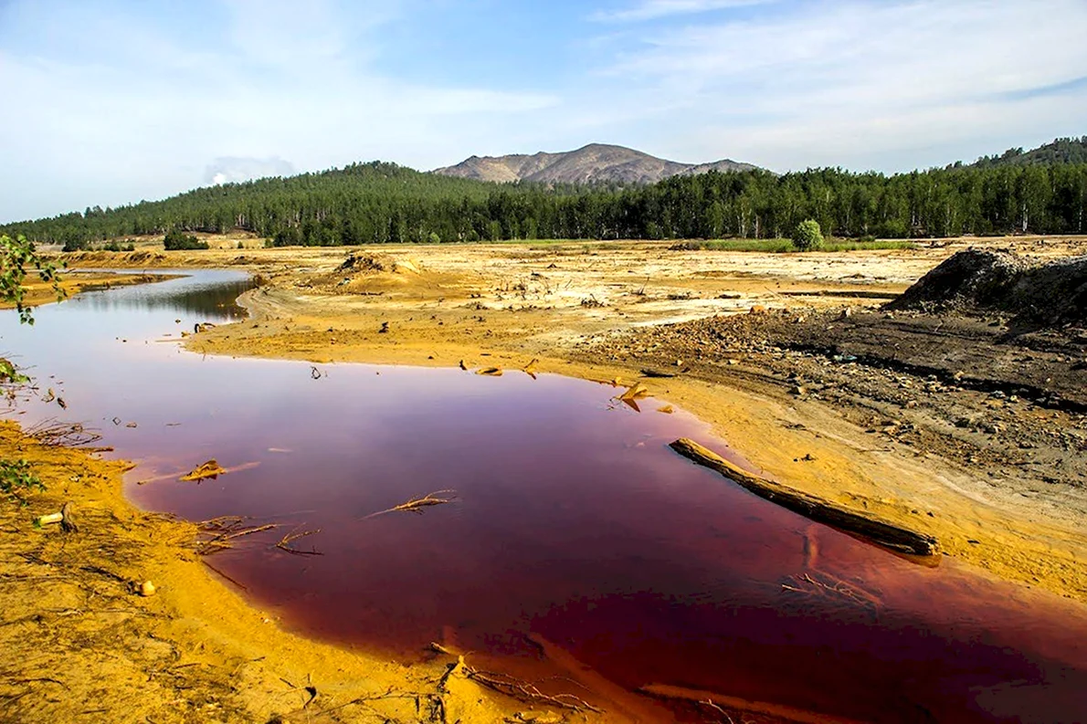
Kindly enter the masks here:
M 724 160 L 712 163 L 679 163 L 622 146 L 590 143 L 564 153 L 473 155 L 454 166 L 435 168 L 442 176 L 485 182 L 536 182 L 542 184 L 655 184 L 672 176 L 691 176 L 708 171 L 753 171 L 750 163 Z

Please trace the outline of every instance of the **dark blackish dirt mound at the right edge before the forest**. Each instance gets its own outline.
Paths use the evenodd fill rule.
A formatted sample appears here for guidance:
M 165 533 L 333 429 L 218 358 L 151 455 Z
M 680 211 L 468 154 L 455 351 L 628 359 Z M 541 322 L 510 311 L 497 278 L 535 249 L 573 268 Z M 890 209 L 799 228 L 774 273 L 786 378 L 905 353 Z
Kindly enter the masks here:
M 1038 264 L 967 249 L 921 277 L 889 310 L 999 311 L 1045 325 L 1087 322 L 1087 257 Z

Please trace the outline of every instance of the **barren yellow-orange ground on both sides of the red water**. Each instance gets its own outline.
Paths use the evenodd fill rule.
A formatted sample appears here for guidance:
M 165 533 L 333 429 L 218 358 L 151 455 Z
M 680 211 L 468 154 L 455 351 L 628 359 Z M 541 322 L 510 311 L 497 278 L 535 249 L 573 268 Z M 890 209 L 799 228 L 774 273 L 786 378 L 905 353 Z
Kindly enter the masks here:
M 1087 336 L 1077 329 L 1022 335 L 999 319 L 878 310 L 970 244 L 983 242 L 833 254 L 672 251 L 651 242 L 145 249 L 67 260 L 72 266 L 238 266 L 261 275 L 262 286 L 241 300 L 250 319 L 190 337 L 193 351 L 317 365 L 463 363 L 509 371 L 535 360 L 540 372 L 640 382 L 711 423 L 733 450 L 782 483 L 908 523 L 936 535 L 948 556 L 1084 601 Z M 1084 238 L 984 245 L 1040 257 L 1087 252 Z M 78 485 L 63 471 L 52 497 L 34 500 L 35 514 L 71 499 L 97 511 L 91 529 L 128 536 L 116 544 L 121 554 L 96 562 L 105 549 L 96 550 L 92 539 L 34 532 L 24 513 L 5 513 L 5 529 L 20 536 L 5 537 L 11 550 L 0 570 L 0 635 L 5 650 L 25 639 L 24 650 L 36 652 L 11 672 L 23 683 L 0 690 L 0 706 L 14 707 L 9 712 L 17 712 L 17 721 L 66 719 L 71 712 L 33 714 L 58 701 L 79 700 L 91 710 L 97 704 L 87 702 L 105 696 L 89 674 L 86 688 L 74 694 L 65 681 L 70 692 L 59 696 L 50 687 L 62 685 L 40 678 L 48 675 L 36 673 L 33 662 L 46 666 L 63 652 L 65 666 L 53 671 L 78 671 L 75 657 L 92 671 L 93 657 L 114 648 L 132 681 L 159 672 L 140 684 L 146 706 L 161 712 L 153 721 L 204 721 L 185 709 L 190 703 L 170 708 L 173 699 L 220 702 L 223 721 L 266 721 L 273 711 L 301 707 L 297 687 L 308 673 L 323 682 L 320 696 L 333 692 L 335 704 L 388 687 L 435 694 L 440 660 L 418 671 L 395 667 L 261 624 L 261 614 L 213 581 L 191 553 L 178 553 L 191 540 L 190 526 L 132 511 L 116 472 L 96 467 L 104 463 L 27 447 L 11 428 L 3 433 L 0 442 L 22 446 L 27 457 L 71 455 L 63 464 L 90 471 Z M 116 575 L 88 572 L 88 565 Z M 42 588 L 26 576 L 58 577 Z M 167 583 L 153 599 L 125 592 L 124 582 L 143 577 L 184 585 Z M 47 598 L 35 599 L 41 590 Z M 121 623 L 96 623 L 104 621 L 102 608 L 124 611 Z M 89 633 L 73 638 L 75 622 Z M 254 632 L 261 634 L 250 640 Z M 204 647 L 199 654 L 190 653 L 195 642 Z M 198 672 L 208 682 L 184 678 Z M 449 682 L 463 695 L 447 697 L 451 707 L 491 706 L 471 682 Z M 208 687 L 208 698 L 195 698 L 190 686 Z M 464 721 L 501 715 L 483 712 L 464 711 Z M 401 713 L 386 715 L 400 721 Z M 300 721 L 366 721 L 348 710 L 323 715 L 329 719 Z

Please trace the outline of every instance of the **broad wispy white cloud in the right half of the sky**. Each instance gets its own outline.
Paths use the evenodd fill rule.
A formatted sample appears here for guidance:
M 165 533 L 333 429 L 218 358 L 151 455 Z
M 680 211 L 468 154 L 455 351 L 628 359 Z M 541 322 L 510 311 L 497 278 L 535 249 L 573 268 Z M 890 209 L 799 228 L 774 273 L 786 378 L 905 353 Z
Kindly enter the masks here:
M 1083 27 L 1078 0 L 808 3 L 647 29 L 605 78 L 660 110 L 647 129 L 665 118 L 686 128 L 647 130 L 675 154 L 905 168 L 1082 134 L 1087 93 L 1032 91 L 1085 74 Z

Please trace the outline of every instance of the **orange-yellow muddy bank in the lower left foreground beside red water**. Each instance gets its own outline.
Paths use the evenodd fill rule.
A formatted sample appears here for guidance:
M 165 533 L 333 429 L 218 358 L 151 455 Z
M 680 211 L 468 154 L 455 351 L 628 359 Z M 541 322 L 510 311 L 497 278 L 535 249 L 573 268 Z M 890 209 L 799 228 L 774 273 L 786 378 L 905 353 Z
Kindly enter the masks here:
M 102 721 L 267 722 L 354 708 L 397 721 L 416 698 L 465 721 L 528 709 L 463 677 L 438 687 L 445 660 L 407 666 L 284 629 L 201 560 L 195 523 L 127 499 L 123 461 L 43 446 L 11 421 L 0 455 L 29 461 L 47 487 L 25 508 L 0 508 L 0 646 L 13 667 L 0 717 L 77 721 L 92 709 Z M 65 502 L 77 532 L 33 525 Z M 137 592 L 143 581 L 152 596 Z

